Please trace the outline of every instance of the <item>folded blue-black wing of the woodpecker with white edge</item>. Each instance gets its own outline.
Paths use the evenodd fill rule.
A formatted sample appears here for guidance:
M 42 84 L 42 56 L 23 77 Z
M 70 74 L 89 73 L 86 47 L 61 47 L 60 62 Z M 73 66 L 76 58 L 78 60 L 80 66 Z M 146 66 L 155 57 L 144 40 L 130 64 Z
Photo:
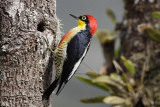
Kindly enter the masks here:
M 82 31 L 75 35 L 69 42 L 67 46 L 67 58 L 64 61 L 61 80 L 56 95 L 61 92 L 65 84 L 78 69 L 81 61 L 88 51 L 90 41 L 90 33 L 88 31 Z M 75 64 L 77 64 L 76 67 Z

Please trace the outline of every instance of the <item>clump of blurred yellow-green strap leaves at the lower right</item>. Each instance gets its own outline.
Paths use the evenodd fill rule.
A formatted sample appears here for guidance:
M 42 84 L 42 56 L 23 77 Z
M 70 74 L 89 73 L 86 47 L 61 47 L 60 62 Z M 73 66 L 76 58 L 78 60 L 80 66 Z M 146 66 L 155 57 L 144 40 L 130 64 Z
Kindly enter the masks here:
M 125 61 L 123 63 L 125 64 L 126 61 L 129 60 L 125 58 Z M 131 61 L 129 61 L 129 64 L 130 63 Z M 131 66 L 133 67 L 133 65 Z M 119 73 L 111 73 L 110 75 L 101 75 L 97 72 L 87 72 L 86 75 L 89 78 L 77 76 L 77 78 L 84 83 L 98 87 L 110 93 L 110 96 L 97 96 L 93 98 L 82 99 L 81 101 L 84 103 L 103 102 L 112 105 L 132 106 L 132 101 L 136 96 L 136 90 L 134 89 L 135 84 L 133 84 L 135 80 L 132 77 L 134 73 L 133 71 L 128 71 L 123 72 L 122 74 L 123 75 L 119 75 Z

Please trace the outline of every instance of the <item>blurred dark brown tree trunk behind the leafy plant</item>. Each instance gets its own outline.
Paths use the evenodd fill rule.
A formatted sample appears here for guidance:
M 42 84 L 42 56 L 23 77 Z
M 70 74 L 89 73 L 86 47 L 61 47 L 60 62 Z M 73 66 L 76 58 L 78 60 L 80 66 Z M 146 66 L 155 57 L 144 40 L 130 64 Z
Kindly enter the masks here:
M 154 11 L 160 11 L 159 0 L 124 0 L 126 13 L 123 22 L 120 24 L 121 54 L 130 59 L 136 67 L 136 80 L 144 84 L 144 89 L 151 92 L 153 106 L 157 107 L 159 96 L 159 75 L 160 75 L 160 44 L 152 41 L 146 34 L 139 31 L 138 26 L 142 24 L 157 27 L 158 21 L 151 17 Z M 136 107 L 143 107 L 148 103 L 142 98 L 136 99 Z M 147 96 L 148 97 L 148 96 Z M 143 100 L 142 100 L 143 99 Z

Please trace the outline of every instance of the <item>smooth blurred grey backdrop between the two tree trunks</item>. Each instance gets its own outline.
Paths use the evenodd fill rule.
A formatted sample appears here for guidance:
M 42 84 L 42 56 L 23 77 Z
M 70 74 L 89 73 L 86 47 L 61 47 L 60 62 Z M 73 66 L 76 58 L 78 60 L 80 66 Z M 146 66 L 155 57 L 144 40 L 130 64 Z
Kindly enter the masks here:
M 77 26 L 76 21 L 69 16 L 73 14 L 76 16 L 83 14 L 91 14 L 97 19 L 98 29 L 113 30 L 115 25 L 106 16 L 106 8 L 112 9 L 117 21 L 122 20 L 124 13 L 123 0 L 57 0 L 57 16 L 63 24 L 62 32 L 64 34 L 71 28 Z M 62 35 L 63 36 L 63 35 Z M 91 47 L 84 58 L 82 64 L 77 70 L 76 75 L 84 75 L 85 72 L 94 71 L 99 72 L 104 63 L 101 47 L 98 40 L 94 36 Z M 87 64 L 89 67 L 87 67 Z M 86 85 L 75 78 L 75 76 L 67 83 L 64 90 L 59 96 L 53 96 L 54 107 L 109 107 L 105 104 L 84 104 L 80 102 L 82 98 L 90 98 L 96 95 L 107 95 L 107 93 L 98 88 Z

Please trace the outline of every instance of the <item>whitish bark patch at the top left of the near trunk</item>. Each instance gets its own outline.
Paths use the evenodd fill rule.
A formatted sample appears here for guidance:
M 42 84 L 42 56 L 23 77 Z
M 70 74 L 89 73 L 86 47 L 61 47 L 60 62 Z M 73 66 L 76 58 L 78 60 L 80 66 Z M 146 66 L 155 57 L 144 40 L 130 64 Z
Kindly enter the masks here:
M 13 18 L 18 12 L 18 15 L 20 16 L 20 13 L 24 10 L 24 3 L 20 2 L 20 0 L 14 0 L 13 4 L 9 7 L 7 12 L 9 13 L 10 17 Z

